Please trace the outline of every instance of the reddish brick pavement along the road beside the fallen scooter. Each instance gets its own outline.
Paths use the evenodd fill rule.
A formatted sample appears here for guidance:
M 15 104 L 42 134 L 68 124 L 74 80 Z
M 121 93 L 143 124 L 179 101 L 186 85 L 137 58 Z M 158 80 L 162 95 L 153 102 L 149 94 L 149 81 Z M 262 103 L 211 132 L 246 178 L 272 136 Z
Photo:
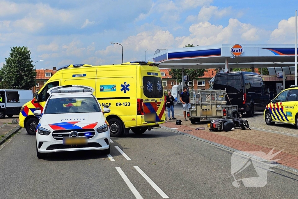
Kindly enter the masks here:
M 274 159 L 280 159 L 277 161 L 278 163 L 298 169 L 298 137 L 249 129 L 235 129 L 229 132 L 211 132 L 209 128 L 207 128 L 209 121 L 191 124 L 190 121 L 184 121 L 183 116 L 175 115 L 175 117 L 181 119 L 182 125 L 176 125 L 176 120 L 168 120 L 167 123 L 162 124 L 162 126 L 177 128 L 175 130 L 240 151 L 262 151 L 267 154 L 273 148 L 274 153 L 284 149 L 283 152 L 275 156 Z M 205 130 L 195 130 L 198 127 L 205 127 Z

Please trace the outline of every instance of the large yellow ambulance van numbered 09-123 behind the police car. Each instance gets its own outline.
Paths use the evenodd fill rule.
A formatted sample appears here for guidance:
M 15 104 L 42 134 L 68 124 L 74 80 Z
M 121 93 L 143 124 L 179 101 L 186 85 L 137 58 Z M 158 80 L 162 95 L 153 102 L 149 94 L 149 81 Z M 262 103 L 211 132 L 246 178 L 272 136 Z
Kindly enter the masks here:
M 19 124 L 30 135 L 35 135 L 39 121 L 33 112 L 43 110 L 49 97 L 47 90 L 63 85 L 85 85 L 95 89 L 93 94 L 100 105 L 111 109 L 105 114 L 111 137 L 128 134 L 130 129 L 141 134 L 147 129 L 160 128 L 159 125 L 165 122 L 164 91 L 158 63 L 72 64 L 60 67 L 35 98 L 21 108 Z

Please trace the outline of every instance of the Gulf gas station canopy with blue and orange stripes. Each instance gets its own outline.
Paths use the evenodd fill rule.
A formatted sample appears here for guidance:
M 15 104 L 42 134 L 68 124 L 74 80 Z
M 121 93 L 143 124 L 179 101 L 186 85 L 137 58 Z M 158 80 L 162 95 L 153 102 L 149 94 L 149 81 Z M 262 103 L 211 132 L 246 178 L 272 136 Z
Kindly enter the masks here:
M 294 44 L 220 44 L 159 49 L 148 61 L 160 68 L 268 68 L 295 74 Z M 270 69 L 271 68 L 271 69 Z M 273 69 L 272 69 L 273 68 Z

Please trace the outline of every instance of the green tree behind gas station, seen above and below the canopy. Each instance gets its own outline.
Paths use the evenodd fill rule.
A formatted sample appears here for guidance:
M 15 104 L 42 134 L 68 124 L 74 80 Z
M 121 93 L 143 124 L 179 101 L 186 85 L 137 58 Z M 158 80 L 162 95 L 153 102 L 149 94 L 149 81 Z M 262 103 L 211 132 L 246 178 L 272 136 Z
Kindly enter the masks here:
M 195 45 L 188 44 L 188 45 L 185 45 L 185 48 L 193 47 L 193 46 Z M 174 68 L 174 69 L 171 69 L 169 74 L 172 76 L 173 79 L 177 79 L 179 82 L 181 82 L 182 81 L 181 72 L 182 72 L 181 69 Z M 207 72 L 207 69 L 199 69 L 199 68 L 185 69 L 184 75 L 188 75 L 189 80 L 194 81 L 194 80 L 198 80 L 199 77 L 202 77 L 204 75 L 204 72 Z M 191 88 L 193 89 L 193 85 L 191 86 Z

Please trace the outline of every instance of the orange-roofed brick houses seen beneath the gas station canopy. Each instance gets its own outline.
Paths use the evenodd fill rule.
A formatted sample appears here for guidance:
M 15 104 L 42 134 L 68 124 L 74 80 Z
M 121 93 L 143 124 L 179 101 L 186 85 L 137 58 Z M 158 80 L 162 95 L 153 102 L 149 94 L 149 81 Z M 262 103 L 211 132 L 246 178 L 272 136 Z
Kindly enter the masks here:
M 162 75 L 162 85 L 164 86 L 164 90 L 171 90 L 174 85 L 181 84 L 178 80 L 173 79 L 172 76 L 169 74 L 171 69 L 160 69 L 161 75 Z M 214 77 L 216 74 L 215 69 L 208 69 L 207 72 L 204 72 L 204 75 L 202 77 L 199 77 L 198 80 L 194 81 L 188 81 L 186 82 L 187 86 L 191 89 L 191 86 L 193 84 L 193 89 L 209 89 L 209 83 L 208 81 Z

